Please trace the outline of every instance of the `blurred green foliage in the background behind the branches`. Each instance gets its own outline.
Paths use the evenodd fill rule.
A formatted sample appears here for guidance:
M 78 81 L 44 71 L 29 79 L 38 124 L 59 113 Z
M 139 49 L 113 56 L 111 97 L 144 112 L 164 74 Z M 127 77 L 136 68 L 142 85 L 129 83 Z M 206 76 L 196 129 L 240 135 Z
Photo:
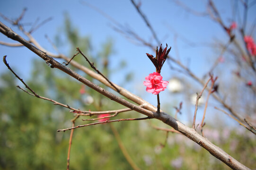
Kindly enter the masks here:
M 90 54 L 90 40 L 80 37 L 68 17 L 65 33 L 72 48 Z M 106 42 L 97 57 L 88 57 L 98 64 L 105 75 L 110 75 L 108 59 L 113 42 Z M 74 52 L 74 51 L 73 51 Z M 73 53 L 72 53 L 73 54 Z M 8 58 L 7 58 L 8 60 Z M 81 56 L 78 62 L 86 64 Z M 105 63 L 105 64 L 104 64 Z M 9 63 L 11 66 L 11 63 Z M 125 65 L 125 63 L 123 63 Z M 88 65 L 87 65 L 88 66 Z M 71 66 L 69 66 L 71 67 Z M 72 67 L 71 67 L 72 68 Z M 83 73 L 82 76 L 87 77 Z M 89 77 L 87 77 L 89 78 Z M 127 75 L 131 79 L 132 74 Z M 57 129 L 71 127 L 73 114 L 68 109 L 26 94 L 15 86 L 20 85 L 10 72 L 0 77 L 0 169 L 1 170 L 63 170 L 66 169 L 70 131 Z M 39 95 L 69 104 L 81 110 L 116 110 L 123 108 L 64 73 L 35 60 L 27 84 Z M 105 87 L 104 85 L 102 85 Z M 92 103 L 84 99 L 92 96 Z M 138 118 L 136 112 L 120 113 L 118 118 Z M 141 170 L 228 170 L 224 163 L 214 158 L 185 136 L 157 131 L 150 124 L 164 126 L 158 120 L 123 121 L 113 123 L 132 160 Z M 76 125 L 85 124 L 81 120 Z M 205 127 L 205 136 L 224 151 L 251 169 L 256 169 L 256 138 L 242 127 L 216 129 Z M 71 146 L 71 170 L 131 170 L 121 152 L 109 124 L 75 129 Z

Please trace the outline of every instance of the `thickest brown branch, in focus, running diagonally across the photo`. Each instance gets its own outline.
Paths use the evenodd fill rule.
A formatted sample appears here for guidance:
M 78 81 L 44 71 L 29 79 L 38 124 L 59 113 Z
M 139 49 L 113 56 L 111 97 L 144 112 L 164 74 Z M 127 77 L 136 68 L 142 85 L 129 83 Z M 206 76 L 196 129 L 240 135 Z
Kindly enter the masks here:
M 49 57 L 45 52 L 37 49 L 35 46 L 33 46 L 31 43 L 27 42 L 24 38 L 22 38 L 20 35 L 16 34 L 14 31 L 12 31 L 9 27 L 5 26 L 1 22 L 0 22 L 0 32 L 2 34 L 6 35 L 7 37 L 22 43 L 29 50 L 33 51 L 36 55 L 38 55 L 39 57 L 44 59 L 47 64 L 51 64 L 51 68 L 58 68 L 58 69 L 62 70 L 63 72 L 76 78 L 83 84 L 88 85 L 89 87 L 91 87 L 92 89 L 97 91 L 98 93 L 105 95 L 106 97 L 108 97 L 109 99 L 111 99 L 115 102 L 118 102 L 118 103 L 120 103 L 132 110 L 135 110 L 139 113 L 142 113 L 150 118 L 156 118 L 156 119 L 163 121 L 165 124 L 168 124 L 169 126 L 173 127 L 174 129 L 176 129 L 183 135 L 187 136 L 188 138 L 190 138 L 191 140 L 193 140 L 194 142 L 196 142 L 197 144 L 202 146 L 213 156 L 215 156 L 216 158 L 218 158 L 219 160 L 221 160 L 225 164 L 227 164 L 230 168 L 249 170 L 246 166 L 244 166 L 243 164 L 241 164 L 240 162 L 238 162 L 237 160 L 232 158 L 228 153 L 225 153 L 221 148 L 212 144 L 209 140 L 207 140 L 203 136 L 199 135 L 193 128 L 186 127 L 184 124 L 177 121 L 176 119 L 174 119 L 173 117 L 171 117 L 170 115 L 168 115 L 167 113 L 165 113 L 163 111 L 161 111 L 159 114 L 156 114 L 156 108 L 154 106 L 152 106 L 151 104 L 149 104 L 148 102 L 144 101 L 143 99 L 141 99 L 139 97 L 135 97 L 135 95 L 132 96 L 135 99 L 135 101 L 140 102 L 140 104 L 147 103 L 145 105 L 145 108 L 147 108 L 148 110 L 143 109 L 139 106 L 136 106 L 130 102 L 127 102 L 126 100 L 124 100 L 124 99 L 114 95 L 113 93 L 110 93 L 110 92 L 106 91 L 105 89 L 99 87 L 98 85 L 95 85 L 94 83 L 88 81 L 86 78 L 80 76 L 76 72 L 72 71 L 70 68 L 65 67 L 64 65 L 57 62 L 53 58 Z M 132 94 L 132 93 L 130 93 L 130 94 Z M 102 122 L 100 122 L 100 123 L 102 123 Z M 81 125 L 81 126 L 85 127 L 88 125 Z M 74 127 L 74 128 L 77 128 L 77 127 Z M 70 129 L 72 129 L 72 128 L 62 129 L 62 130 L 65 131 L 65 130 L 70 130 Z

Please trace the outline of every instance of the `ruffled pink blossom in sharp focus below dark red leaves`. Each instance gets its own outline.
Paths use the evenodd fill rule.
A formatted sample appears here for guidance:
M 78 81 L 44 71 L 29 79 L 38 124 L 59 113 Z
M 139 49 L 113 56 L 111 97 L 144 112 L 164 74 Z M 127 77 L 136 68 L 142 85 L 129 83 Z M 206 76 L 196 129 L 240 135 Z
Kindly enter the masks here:
M 158 72 L 150 73 L 149 76 L 146 76 L 146 81 L 143 82 L 143 85 L 147 86 L 146 91 L 152 94 L 159 94 L 164 91 L 169 82 L 162 80 L 162 78 Z

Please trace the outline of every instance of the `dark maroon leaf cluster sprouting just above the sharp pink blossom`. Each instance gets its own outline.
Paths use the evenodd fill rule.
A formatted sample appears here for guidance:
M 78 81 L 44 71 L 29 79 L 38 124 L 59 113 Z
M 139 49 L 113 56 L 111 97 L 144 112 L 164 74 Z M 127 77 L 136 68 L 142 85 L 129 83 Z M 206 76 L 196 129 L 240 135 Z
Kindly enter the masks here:
M 171 47 L 167 50 L 167 44 L 166 44 L 166 48 L 163 51 L 162 44 L 161 44 L 159 51 L 158 51 L 158 49 L 156 50 L 156 58 L 154 58 L 153 55 L 146 53 L 147 56 L 149 57 L 149 59 L 154 64 L 154 66 L 156 67 L 157 72 L 159 72 L 159 73 L 161 72 L 161 68 L 163 67 L 163 64 L 164 64 L 170 50 L 171 50 Z

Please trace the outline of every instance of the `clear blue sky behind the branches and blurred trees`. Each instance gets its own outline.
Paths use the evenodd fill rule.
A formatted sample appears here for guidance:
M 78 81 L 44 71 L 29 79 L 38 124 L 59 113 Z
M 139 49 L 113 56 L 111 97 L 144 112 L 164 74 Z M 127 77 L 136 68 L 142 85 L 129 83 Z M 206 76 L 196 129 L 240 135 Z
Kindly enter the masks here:
M 104 11 L 107 15 L 114 18 L 120 24 L 131 28 L 145 40 L 151 40 L 153 44 L 158 45 L 152 39 L 150 30 L 145 25 L 141 17 L 132 6 L 130 0 L 93 0 L 90 4 Z M 217 8 L 220 10 L 225 24 L 232 21 L 231 0 L 214 0 Z M 137 1 L 138 2 L 138 1 Z M 197 11 L 206 10 L 205 0 L 183 0 L 187 6 Z M 132 84 L 125 86 L 133 93 L 145 97 L 152 104 L 156 104 L 155 96 L 145 92 L 142 85 L 145 76 L 154 71 L 153 64 L 147 58 L 145 53 L 154 54 L 154 51 L 148 47 L 143 47 L 127 41 L 127 39 L 113 30 L 109 25 L 111 21 L 99 14 L 97 11 L 85 6 L 79 0 L 1 0 L 0 12 L 9 18 L 17 18 L 23 8 L 27 8 L 23 18 L 24 23 L 33 23 L 37 18 L 43 21 L 46 18 L 53 19 L 41 26 L 33 36 L 48 51 L 53 51 L 51 44 L 45 39 L 45 34 L 54 40 L 56 34 L 60 34 L 64 22 L 64 13 L 68 13 L 71 22 L 79 29 L 81 35 L 88 35 L 91 38 L 93 48 L 98 51 L 101 45 L 111 38 L 114 42 L 115 53 L 111 56 L 111 67 L 114 69 L 121 60 L 127 62 L 127 68 L 123 71 L 115 73 L 110 79 L 120 84 L 124 73 L 133 72 L 134 79 Z M 209 17 L 197 17 L 185 12 L 183 8 L 178 7 L 173 0 L 141 0 L 141 11 L 147 16 L 150 24 L 158 34 L 160 41 L 168 46 L 172 46 L 170 54 L 177 57 L 177 51 L 181 61 L 189 66 L 196 73 L 202 75 L 204 70 L 208 70 L 207 62 L 211 62 L 212 58 L 216 58 L 217 52 L 212 51 L 205 44 L 212 42 L 214 39 L 227 41 L 228 36 L 223 33 L 222 28 L 213 22 Z M 256 6 L 250 8 L 248 14 L 248 24 L 253 22 Z M 0 21 L 10 26 L 6 21 L 0 18 Z M 29 29 L 29 27 L 27 27 Z M 17 29 L 14 29 L 15 31 Z M 17 31 L 17 33 L 20 33 Z M 177 37 L 177 42 L 175 42 Z M 190 47 L 182 41 L 185 37 L 190 42 L 195 42 L 196 47 Z M 0 34 L 0 41 L 13 42 L 4 35 Z M 63 42 L 65 43 L 65 42 Z M 204 44 L 204 45 L 202 45 Z M 165 45 L 164 45 L 165 46 Z M 68 54 L 67 49 L 60 49 L 62 53 Z M 16 68 L 19 75 L 23 78 L 29 77 L 31 70 L 31 60 L 38 58 L 35 54 L 23 47 L 13 48 L 0 45 L 0 56 L 8 55 L 8 62 L 11 67 Z M 0 74 L 5 72 L 7 68 L 0 62 Z M 161 71 L 164 80 L 168 80 L 172 76 L 176 76 L 166 63 Z M 121 78 L 120 78 L 121 77 Z M 201 88 L 201 87 L 200 87 Z M 199 88 L 199 89 L 200 89 Z M 168 91 L 162 92 L 163 99 L 172 96 Z M 173 100 L 173 99 L 171 99 Z M 180 99 L 182 100 L 182 99 Z M 177 102 L 180 102 L 177 100 Z M 176 103 L 177 103 L 176 102 Z M 164 103 L 164 102 L 163 102 Z

